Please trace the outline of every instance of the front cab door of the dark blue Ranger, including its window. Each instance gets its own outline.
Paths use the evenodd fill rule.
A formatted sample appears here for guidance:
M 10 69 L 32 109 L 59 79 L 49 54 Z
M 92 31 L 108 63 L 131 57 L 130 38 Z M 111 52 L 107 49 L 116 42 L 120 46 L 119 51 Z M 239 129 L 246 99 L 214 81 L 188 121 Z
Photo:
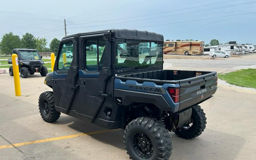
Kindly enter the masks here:
M 68 114 L 78 89 L 78 39 L 72 37 L 61 41 L 52 75 L 55 108 L 65 114 Z M 73 57 L 67 56 L 66 52 L 72 52 Z

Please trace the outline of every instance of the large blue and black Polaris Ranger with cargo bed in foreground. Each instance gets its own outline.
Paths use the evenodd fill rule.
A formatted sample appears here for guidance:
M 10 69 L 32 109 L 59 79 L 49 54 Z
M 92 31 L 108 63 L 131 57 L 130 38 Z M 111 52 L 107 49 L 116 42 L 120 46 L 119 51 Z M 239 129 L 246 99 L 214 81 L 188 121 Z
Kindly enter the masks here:
M 140 48 L 144 52 L 140 52 Z M 63 61 L 63 53 L 72 58 Z M 198 105 L 217 90 L 217 73 L 163 70 L 163 36 L 138 30 L 104 30 L 66 36 L 54 72 L 39 97 L 46 122 L 64 113 L 106 129 L 125 129 L 133 160 L 166 160 L 170 132 L 199 136 L 206 116 Z

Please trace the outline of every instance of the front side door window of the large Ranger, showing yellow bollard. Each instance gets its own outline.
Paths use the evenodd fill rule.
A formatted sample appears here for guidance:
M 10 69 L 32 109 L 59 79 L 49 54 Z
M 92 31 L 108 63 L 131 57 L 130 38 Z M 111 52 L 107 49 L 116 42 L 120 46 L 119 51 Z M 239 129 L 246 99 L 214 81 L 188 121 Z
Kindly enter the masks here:
M 68 71 L 73 60 L 73 43 L 65 42 L 61 46 L 60 56 L 58 59 L 58 70 Z

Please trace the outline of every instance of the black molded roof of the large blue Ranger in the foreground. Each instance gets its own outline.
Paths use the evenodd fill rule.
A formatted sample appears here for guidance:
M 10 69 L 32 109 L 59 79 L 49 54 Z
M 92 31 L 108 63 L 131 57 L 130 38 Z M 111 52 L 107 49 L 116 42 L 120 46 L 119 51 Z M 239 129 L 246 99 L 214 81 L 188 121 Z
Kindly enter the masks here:
M 107 33 L 107 32 L 111 32 L 111 31 L 115 38 L 163 41 L 163 35 L 161 35 L 161 34 L 154 33 L 154 32 L 148 32 L 148 31 L 138 31 L 138 30 L 128 30 L 128 29 L 109 29 L 109 30 L 77 33 L 74 35 L 66 36 L 63 39 L 74 37 L 74 36 L 102 34 L 102 33 Z

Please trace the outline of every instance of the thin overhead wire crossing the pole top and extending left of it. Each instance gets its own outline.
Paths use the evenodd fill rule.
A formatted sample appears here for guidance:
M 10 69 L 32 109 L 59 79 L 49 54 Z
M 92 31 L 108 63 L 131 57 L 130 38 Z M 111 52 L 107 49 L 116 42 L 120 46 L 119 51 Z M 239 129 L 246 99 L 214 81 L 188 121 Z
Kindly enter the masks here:
M 87 14 L 99 13 L 99 12 L 103 12 L 103 11 L 109 11 L 109 10 L 113 10 L 113 9 L 117 9 L 117 8 L 123 8 L 123 7 L 126 7 L 126 6 L 137 5 L 137 4 L 144 3 L 144 2 L 149 2 L 149 1 L 152 1 L 152 0 L 146 0 L 146 1 L 143 1 L 143 2 L 133 3 L 133 4 L 130 4 L 130 5 L 119 6 L 119 7 L 110 8 L 110 9 L 104 9 L 104 10 L 100 10 L 100 11 L 96 11 L 96 12 L 80 14 L 80 15 L 77 15 L 77 16 L 68 17 L 68 18 L 66 18 L 66 19 L 70 19 L 70 18 L 73 18 L 73 17 L 84 16 L 84 15 L 87 15 Z M 25 27 L 31 27 L 31 26 L 40 25 L 40 24 L 47 24 L 47 23 L 55 22 L 55 21 L 59 21 L 59 20 L 62 20 L 62 19 L 55 19 L 55 20 L 48 21 L 48 22 L 42 22 L 42 23 L 33 24 L 33 25 L 27 25 L 27 26 L 22 26 L 22 27 L 18 27 L 18 28 L 25 28 Z M 17 28 L 14 28 L 14 29 L 17 29 Z

